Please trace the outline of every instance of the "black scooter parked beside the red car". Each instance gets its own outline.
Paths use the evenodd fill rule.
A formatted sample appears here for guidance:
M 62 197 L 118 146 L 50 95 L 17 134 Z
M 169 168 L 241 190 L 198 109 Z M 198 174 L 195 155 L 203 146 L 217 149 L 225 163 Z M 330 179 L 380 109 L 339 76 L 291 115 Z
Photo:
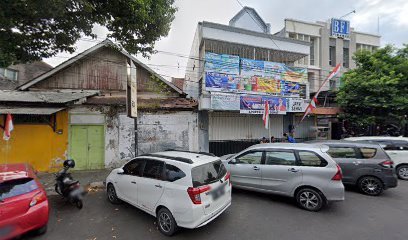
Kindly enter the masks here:
M 85 191 L 79 184 L 79 181 L 75 181 L 71 174 L 68 173 L 68 169 L 74 167 L 74 160 L 64 161 L 64 169 L 55 174 L 55 191 L 71 204 L 81 209 L 83 207 L 82 199 Z

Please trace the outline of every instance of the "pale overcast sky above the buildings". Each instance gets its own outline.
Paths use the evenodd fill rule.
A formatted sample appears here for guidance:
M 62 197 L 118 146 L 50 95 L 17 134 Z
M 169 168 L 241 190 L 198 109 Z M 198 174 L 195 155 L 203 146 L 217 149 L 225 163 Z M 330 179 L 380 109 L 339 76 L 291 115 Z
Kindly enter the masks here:
M 381 45 L 394 44 L 400 47 L 403 43 L 408 43 L 407 0 L 240 0 L 240 2 L 244 6 L 255 8 L 264 21 L 271 24 L 272 33 L 283 28 L 285 18 L 326 21 L 356 10 L 356 13 L 346 17 L 355 30 L 377 34 L 379 18 Z M 176 0 L 176 5 L 178 12 L 169 35 L 159 40 L 155 48 L 187 56 L 198 22 L 209 21 L 227 25 L 241 10 L 237 0 Z M 94 32 L 98 34 L 99 41 L 105 38 L 107 33 L 102 27 L 95 27 Z M 61 53 L 45 61 L 56 66 L 95 44 L 96 42 L 80 40 L 76 53 L 72 55 Z M 142 59 L 141 56 L 138 56 L 138 59 L 164 76 L 184 77 L 186 57 L 157 53 L 150 60 Z

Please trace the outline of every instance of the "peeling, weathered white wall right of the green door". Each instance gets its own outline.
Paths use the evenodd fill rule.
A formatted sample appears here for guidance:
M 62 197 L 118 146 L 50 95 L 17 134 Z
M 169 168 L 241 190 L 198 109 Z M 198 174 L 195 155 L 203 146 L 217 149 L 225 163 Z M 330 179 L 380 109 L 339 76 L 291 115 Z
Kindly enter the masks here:
M 70 110 L 80 124 L 95 124 L 95 118 L 105 119 L 105 167 L 118 167 L 135 154 L 134 119 L 123 111 L 110 107 L 75 107 Z M 82 117 L 81 117 L 82 116 Z M 88 120 L 89 121 L 88 121 Z M 197 113 L 139 112 L 139 154 L 184 149 L 198 151 Z

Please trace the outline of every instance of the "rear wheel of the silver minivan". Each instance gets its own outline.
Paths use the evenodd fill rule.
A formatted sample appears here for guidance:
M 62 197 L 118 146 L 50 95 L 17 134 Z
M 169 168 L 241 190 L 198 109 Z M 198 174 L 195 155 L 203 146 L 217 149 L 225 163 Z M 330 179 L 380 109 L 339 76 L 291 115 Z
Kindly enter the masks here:
M 296 201 L 299 206 L 308 211 L 317 212 L 324 205 L 321 193 L 311 188 L 303 188 L 296 194 Z

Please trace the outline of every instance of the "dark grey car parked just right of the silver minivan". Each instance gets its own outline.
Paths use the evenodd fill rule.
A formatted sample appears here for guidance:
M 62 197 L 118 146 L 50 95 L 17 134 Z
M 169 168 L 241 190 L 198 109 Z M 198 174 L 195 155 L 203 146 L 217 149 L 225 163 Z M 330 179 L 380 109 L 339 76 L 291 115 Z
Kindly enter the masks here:
M 345 185 L 355 185 L 371 196 L 397 186 L 393 162 L 379 144 L 340 140 L 313 143 L 329 146 L 327 153 L 340 165 Z

